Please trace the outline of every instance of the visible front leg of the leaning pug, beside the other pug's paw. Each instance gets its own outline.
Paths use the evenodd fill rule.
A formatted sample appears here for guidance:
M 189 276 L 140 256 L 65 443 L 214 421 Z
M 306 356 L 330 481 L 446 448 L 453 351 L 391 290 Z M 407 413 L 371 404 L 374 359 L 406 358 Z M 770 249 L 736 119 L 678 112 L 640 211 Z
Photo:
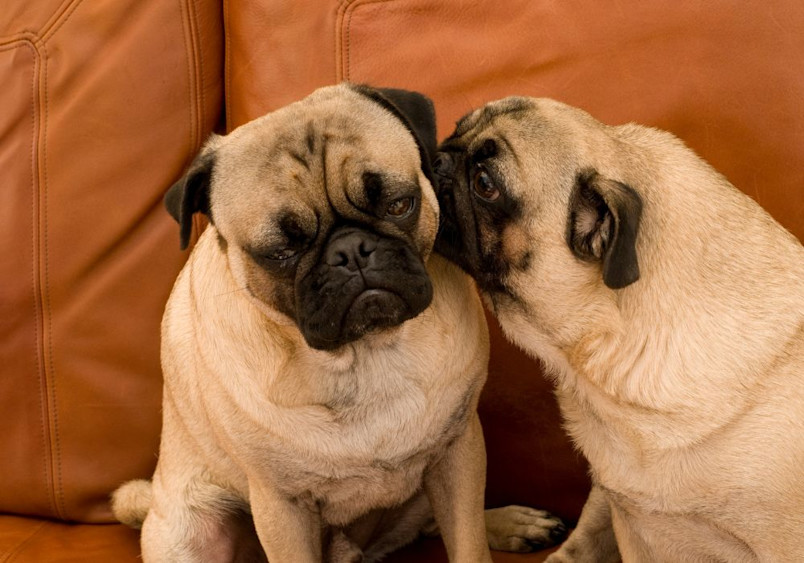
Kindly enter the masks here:
M 609 500 L 600 487 L 593 485 L 586 504 L 583 505 L 578 527 L 572 531 L 561 548 L 545 561 L 546 563 L 588 561 L 616 563 L 620 560 L 620 551 L 611 525 Z

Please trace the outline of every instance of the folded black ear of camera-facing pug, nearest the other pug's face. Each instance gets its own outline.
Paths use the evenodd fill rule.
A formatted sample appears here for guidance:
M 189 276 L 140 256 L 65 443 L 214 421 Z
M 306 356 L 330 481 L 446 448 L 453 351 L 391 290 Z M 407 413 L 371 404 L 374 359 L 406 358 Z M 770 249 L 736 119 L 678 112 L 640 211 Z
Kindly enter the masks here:
M 419 146 L 422 160 L 422 172 L 427 179 L 433 181 L 431 163 L 435 159 L 436 119 L 433 101 L 419 92 L 400 90 L 397 88 L 374 88 L 365 84 L 353 84 L 351 87 L 383 106 L 399 118 L 413 134 Z

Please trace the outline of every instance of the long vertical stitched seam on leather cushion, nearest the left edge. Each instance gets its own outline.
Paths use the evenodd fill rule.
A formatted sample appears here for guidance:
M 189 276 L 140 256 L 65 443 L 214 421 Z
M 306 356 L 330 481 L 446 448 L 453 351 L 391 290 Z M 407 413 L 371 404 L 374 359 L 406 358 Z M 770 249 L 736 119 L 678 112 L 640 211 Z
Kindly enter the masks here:
M 50 244 L 48 238 L 48 225 L 47 225 L 47 207 L 48 207 L 48 167 L 47 167 L 47 126 L 49 117 L 50 97 L 47 86 L 47 47 L 46 42 L 56 34 L 56 32 L 67 23 L 70 17 L 76 12 L 76 9 L 81 4 L 82 0 L 74 0 L 62 13 L 60 21 L 54 23 L 54 26 L 46 34 L 43 35 L 40 44 L 42 49 L 42 85 L 45 93 L 44 96 L 44 119 L 42 122 L 42 149 L 41 149 L 41 170 L 42 170 L 42 185 L 41 185 L 41 216 L 40 216 L 40 232 L 42 233 L 41 247 L 44 249 L 44 261 L 42 265 L 42 274 L 44 275 L 44 284 L 41 286 L 42 303 L 43 303 L 43 318 L 46 324 L 46 335 L 43 339 L 47 341 L 47 361 L 45 374 L 49 384 L 49 415 L 52 422 L 52 440 L 51 440 L 51 465 L 53 466 L 53 499 L 56 508 L 56 516 L 62 519 L 67 518 L 67 509 L 65 503 L 63 477 L 62 477 L 62 461 L 61 461 L 61 436 L 59 434 L 59 409 L 58 399 L 56 392 L 56 364 L 53 353 L 53 316 L 50 314 Z M 42 275 L 40 274 L 40 276 Z M 49 368 L 49 370 L 48 370 Z M 49 375 L 48 375 L 49 374 Z

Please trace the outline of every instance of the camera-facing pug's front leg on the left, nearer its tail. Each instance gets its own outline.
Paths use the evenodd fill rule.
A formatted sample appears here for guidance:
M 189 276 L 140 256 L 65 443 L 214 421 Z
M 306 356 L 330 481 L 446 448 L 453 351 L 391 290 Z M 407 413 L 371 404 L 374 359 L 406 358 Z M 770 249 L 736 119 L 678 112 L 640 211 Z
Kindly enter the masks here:
M 254 527 L 270 563 L 320 563 L 321 516 L 270 484 L 249 482 Z

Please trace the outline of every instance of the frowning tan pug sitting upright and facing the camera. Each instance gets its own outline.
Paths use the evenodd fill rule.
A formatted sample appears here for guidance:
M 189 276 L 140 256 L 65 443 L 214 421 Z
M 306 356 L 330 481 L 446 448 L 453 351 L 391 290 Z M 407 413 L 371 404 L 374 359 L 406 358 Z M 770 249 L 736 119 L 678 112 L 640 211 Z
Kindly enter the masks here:
M 152 484 L 113 499 L 146 562 L 374 561 L 433 516 L 451 560 L 490 561 L 488 335 L 431 254 L 435 145 L 429 99 L 344 84 L 214 136 L 170 189 L 183 247 L 195 212 L 211 224 L 162 323 Z M 563 529 L 489 518 L 509 549 Z

